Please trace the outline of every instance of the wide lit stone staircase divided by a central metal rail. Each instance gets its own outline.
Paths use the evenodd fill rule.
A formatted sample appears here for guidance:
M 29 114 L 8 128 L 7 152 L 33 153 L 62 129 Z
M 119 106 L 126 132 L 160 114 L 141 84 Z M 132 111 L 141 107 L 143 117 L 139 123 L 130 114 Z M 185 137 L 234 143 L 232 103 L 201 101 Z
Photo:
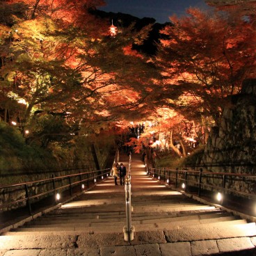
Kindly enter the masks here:
M 128 158 L 122 156 L 128 166 Z M 125 242 L 125 186 L 113 177 L 0 237 L 8 255 L 256 255 L 255 223 L 172 191 L 131 163 L 134 241 Z M 22 254 L 24 253 L 24 254 Z M 236 254 L 238 253 L 238 254 Z

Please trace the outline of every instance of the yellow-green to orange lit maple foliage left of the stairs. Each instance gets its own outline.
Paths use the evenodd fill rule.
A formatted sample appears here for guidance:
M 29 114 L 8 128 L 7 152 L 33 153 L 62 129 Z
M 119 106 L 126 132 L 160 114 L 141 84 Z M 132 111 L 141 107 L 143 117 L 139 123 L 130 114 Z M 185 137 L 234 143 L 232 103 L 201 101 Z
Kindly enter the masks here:
M 108 23 L 90 14 L 102 1 L 19 4 L 22 12 L 1 26 L 1 109 L 6 121 L 33 130 L 29 141 L 95 132 L 145 113 L 150 65 L 131 44 L 141 43 L 150 26 L 145 32 L 131 26 L 111 38 Z

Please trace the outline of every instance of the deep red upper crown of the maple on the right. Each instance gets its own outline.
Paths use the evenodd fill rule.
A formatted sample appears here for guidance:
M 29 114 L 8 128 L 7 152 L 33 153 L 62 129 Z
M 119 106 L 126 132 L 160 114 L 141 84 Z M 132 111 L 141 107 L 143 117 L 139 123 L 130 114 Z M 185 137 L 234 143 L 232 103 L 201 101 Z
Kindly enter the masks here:
M 157 56 L 165 78 L 163 104 L 186 116 L 211 117 L 218 124 L 228 95 L 255 73 L 255 29 L 242 15 L 190 8 L 189 16 L 172 17 Z M 170 101 L 168 101 L 170 99 Z

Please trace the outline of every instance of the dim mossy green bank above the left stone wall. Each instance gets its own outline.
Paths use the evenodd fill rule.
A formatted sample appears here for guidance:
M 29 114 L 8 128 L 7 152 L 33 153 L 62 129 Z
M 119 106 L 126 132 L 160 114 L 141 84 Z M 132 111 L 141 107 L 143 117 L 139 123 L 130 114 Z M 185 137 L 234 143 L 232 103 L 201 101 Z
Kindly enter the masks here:
M 44 125 L 49 126 L 48 129 L 60 128 L 60 124 L 52 123 L 53 119 L 46 116 L 42 119 Z M 91 145 L 94 143 L 97 147 L 99 160 L 104 160 L 111 150 L 111 141 L 114 141 L 113 136 L 109 137 L 106 141 L 86 135 L 70 136 L 69 141 L 57 141 L 53 138 L 46 150 L 38 143 L 27 145 L 19 129 L 0 122 L 0 175 L 67 168 L 95 168 Z

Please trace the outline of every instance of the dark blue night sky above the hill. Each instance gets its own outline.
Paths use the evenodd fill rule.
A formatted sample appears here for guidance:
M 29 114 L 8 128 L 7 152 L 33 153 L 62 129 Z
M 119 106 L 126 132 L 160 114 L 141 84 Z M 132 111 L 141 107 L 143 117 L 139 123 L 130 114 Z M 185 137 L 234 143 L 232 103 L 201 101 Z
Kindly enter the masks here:
M 169 22 L 169 16 L 186 14 L 186 8 L 207 9 L 204 0 L 105 0 L 106 6 L 100 8 L 106 12 L 127 13 L 135 17 L 152 17 L 159 23 Z

